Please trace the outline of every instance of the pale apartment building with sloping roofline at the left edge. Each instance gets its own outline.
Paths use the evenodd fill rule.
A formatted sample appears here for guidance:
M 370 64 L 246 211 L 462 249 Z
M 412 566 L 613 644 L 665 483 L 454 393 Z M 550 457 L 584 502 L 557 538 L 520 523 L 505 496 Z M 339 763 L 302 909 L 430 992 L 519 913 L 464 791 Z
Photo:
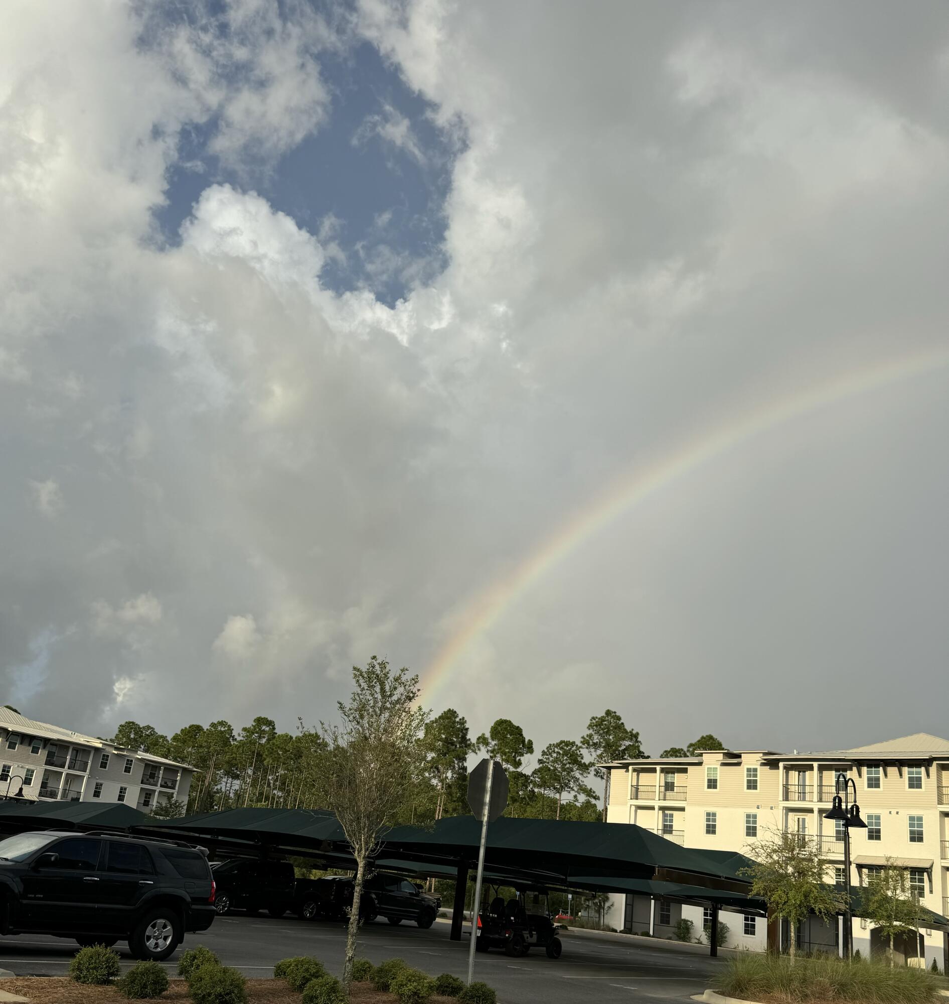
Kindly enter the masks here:
M 0 708 L 0 796 L 125 802 L 151 812 L 188 802 L 194 768 Z

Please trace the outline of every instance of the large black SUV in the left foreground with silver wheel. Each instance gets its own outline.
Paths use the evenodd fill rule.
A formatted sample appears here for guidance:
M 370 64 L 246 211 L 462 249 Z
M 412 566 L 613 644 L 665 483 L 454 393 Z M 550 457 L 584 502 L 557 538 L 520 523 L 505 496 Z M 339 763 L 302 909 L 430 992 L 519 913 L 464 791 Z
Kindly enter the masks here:
M 206 854 L 171 841 L 48 830 L 0 840 L 0 934 L 80 945 L 128 940 L 135 959 L 167 959 L 215 918 Z

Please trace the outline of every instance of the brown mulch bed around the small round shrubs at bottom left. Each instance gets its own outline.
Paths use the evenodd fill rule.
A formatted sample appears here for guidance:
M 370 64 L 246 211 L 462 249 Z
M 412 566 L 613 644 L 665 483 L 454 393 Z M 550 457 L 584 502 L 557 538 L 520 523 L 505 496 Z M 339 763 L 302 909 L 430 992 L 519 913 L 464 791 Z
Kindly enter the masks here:
M 127 1004 L 114 987 L 88 987 L 62 976 L 24 976 L 0 981 L 0 990 L 28 997 L 35 1004 Z M 283 980 L 248 980 L 249 1004 L 300 1004 L 301 995 Z M 188 1004 L 188 984 L 172 980 L 169 989 L 157 998 L 168 1004 Z M 354 983 L 349 991 L 350 1004 L 397 1004 L 391 994 L 372 989 L 371 983 Z M 450 997 L 430 997 L 430 1004 L 457 1004 Z

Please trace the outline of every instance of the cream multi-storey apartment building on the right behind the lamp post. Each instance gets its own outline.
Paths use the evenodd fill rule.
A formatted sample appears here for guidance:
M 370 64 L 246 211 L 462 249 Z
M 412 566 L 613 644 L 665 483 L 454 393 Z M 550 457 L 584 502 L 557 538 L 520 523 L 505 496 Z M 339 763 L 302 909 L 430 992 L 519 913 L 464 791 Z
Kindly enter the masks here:
M 829 883 L 844 887 L 844 830 L 825 819 L 838 775 L 853 778 L 867 829 L 851 830 L 850 885 L 866 886 L 888 859 L 906 868 L 910 887 L 924 906 L 949 916 L 949 741 L 917 733 L 851 750 L 777 753 L 717 750 L 695 756 L 629 760 L 610 766 L 609 822 L 636 823 L 676 843 L 697 849 L 754 855 L 755 841 L 768 832 L 802 834 L 827 859 Z M 672 935 L 681 918 L 697 934 L 710 918 L 700 906 L 617 897 L 616 927 Z M 727 945 L 765 950 L 763 918 L 721 912 Z M 805 949 L 834 951 L 840 925 L 812 919 L 797 933 Z M 926 964 L 949 964 L 949 936 L 921 931 Z M 789 933 L 781 934 L 786 944 Z M 854 948 L 876 950 L 872 925 L 854 920 Z M 913 947 L 905 946 L 908 955 Z

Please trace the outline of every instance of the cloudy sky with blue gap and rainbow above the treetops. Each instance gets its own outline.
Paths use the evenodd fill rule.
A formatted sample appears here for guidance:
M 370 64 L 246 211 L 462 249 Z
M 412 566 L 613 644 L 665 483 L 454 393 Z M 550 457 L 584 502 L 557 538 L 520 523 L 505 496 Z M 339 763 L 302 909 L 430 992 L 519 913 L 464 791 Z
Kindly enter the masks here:
M 941 0 L 11 0 L 4 703 L 949 736 Z

